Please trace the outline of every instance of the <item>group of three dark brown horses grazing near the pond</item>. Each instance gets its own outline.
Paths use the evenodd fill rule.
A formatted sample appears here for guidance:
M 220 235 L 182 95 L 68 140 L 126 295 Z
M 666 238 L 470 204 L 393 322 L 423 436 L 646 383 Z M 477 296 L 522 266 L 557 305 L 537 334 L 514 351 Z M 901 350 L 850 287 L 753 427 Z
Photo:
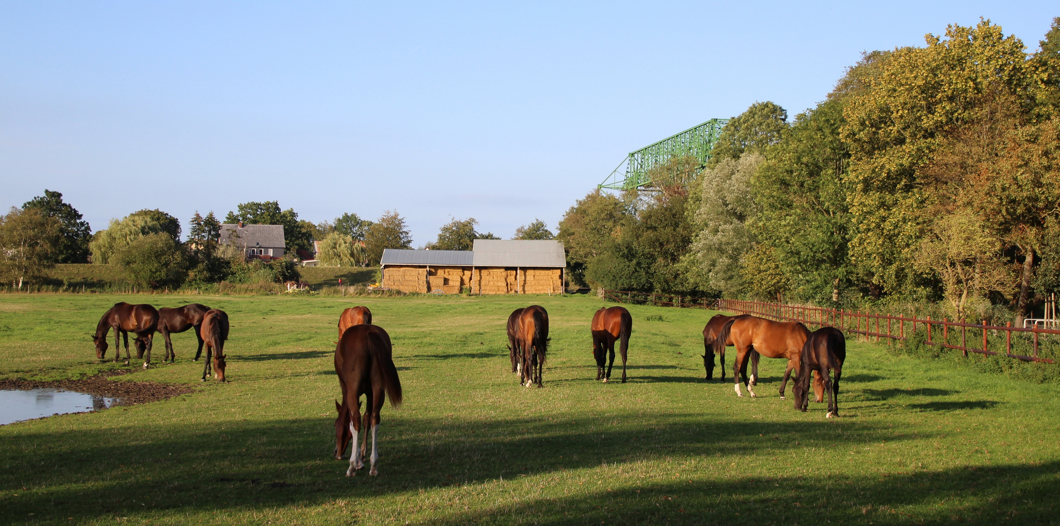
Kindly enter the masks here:
M 177 354 L 173 351 L 173 340 L 170 334 L 195 329 L 195 337 L 199 347 L 195 360 L 202 355 L 206 346 L 206 364 L 202 368 L 202 381 L 212 372 L 219 382 L 225 382 L 225 340 L 228 339 L 228 314 L 218 309 L 210 309 L 200 303 L 190 303 L 176 309 L 154 306 L 141 303 L 129 304 L 124 301 L 114 303 L 95 326 L 92 340 L 95 343 L 95 357 L 104 360 L 107 354 L 107 333 L 114 332 L 114 362 L 121 360 L 119 343 L 125 343 L 125 364 L 131 361 L 129 355 L 129 333 L 132 346 L 136 347 L 137 360 L 143 358 L 143 368 L 151 364 L 151 348 L 155 341 L 155 333 L 159 332 L 165 338 L 165 356 L 162 362 L 176 362 Z M 120 339 L 121 337 L 121 339 Z M 212 360 L 211 360 L 212 358 Z

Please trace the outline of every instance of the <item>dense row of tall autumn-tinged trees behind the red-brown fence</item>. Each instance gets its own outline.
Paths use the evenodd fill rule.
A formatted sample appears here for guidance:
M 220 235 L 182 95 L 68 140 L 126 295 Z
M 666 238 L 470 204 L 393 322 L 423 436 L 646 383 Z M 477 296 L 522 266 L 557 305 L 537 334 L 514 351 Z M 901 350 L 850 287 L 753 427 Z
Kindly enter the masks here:
M 988 20 L 866 53 L 794 120 L 756 103 L 706 166 L 651 175 L 568 210 L 577 282 L 1019 321 L 1060 288 L 1060 18 L 1034 53 Z

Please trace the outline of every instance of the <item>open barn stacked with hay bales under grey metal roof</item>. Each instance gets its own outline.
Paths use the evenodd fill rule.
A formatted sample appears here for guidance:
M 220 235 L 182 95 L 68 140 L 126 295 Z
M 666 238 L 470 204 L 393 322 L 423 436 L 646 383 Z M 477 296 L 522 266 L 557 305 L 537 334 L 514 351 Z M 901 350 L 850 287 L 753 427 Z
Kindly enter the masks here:
M 472 250 L 386 249 L 383 286 L 408 293 L 559 294 L 563 242 L 475 240 Z

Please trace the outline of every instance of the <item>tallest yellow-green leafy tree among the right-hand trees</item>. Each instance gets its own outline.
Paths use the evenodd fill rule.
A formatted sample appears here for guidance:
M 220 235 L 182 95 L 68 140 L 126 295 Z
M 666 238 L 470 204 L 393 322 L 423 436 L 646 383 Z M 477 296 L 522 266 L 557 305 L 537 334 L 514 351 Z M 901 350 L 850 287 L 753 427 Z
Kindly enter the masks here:
M 939 195 L 922 175 L 940 142 L 991 93 L 1034 105 L 1023 43 L 985 20 L 950 25 L 925 48 L 902 48 L 873 65 L 844 108 L 841 137 L 850 148 L 850 259 L 877 290 L 908 294 L 914 252 Z

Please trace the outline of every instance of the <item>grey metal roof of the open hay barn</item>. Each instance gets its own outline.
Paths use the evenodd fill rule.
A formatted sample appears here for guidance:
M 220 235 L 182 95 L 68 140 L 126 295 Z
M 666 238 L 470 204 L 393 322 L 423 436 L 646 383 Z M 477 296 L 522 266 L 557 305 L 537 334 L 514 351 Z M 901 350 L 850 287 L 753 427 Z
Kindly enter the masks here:
M 563 242 L 525 240 L 475 240 L 473 250 L 383 250 L 384 265 L 437 266 L 567 266 Z

